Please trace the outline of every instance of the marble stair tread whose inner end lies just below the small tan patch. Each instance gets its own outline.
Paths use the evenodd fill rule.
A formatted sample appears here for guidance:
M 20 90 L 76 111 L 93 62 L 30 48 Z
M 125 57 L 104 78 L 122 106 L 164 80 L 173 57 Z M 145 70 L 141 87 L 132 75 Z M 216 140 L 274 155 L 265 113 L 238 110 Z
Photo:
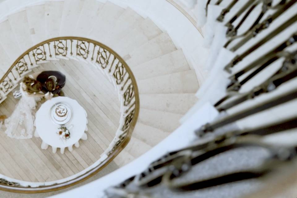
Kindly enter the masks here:
M 129 59 L 126 61 L 130 67 L 168 54 L 176 50 L 174 43 L 167 34 L 163 32 L 152 40 L 129 52 Z

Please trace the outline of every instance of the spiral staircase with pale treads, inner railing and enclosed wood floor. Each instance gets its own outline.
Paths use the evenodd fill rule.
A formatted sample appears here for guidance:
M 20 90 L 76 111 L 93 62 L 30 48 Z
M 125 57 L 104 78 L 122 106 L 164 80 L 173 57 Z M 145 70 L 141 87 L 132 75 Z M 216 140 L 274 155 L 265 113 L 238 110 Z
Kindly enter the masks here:
M 98 54 L 101 59 L 95 58 Z M 106 54 L 118 64 L 110 59 L 103 68 Z M 110 173 L 169 136 L 197 100 L 196 72 L 183 50 L 148 17 L 108 1 L 46 1 L 8 15 L 0 22 L 0 60 L 2 114 L 12 113 L 17 103 L 12 93 L 22 76 L 43 70 L 66 74 L 65 95 L 88 113 L 88 140 L 64 155 L 42 150 L 35 137 L 13 140 L 2 131 L 0 174 L 17 181 L 55 185 L 96 163 L 95 172 L 101 172 L 94 177 Z M 134 92 L 125 107 L 121 96 L 129 84 Z M 127 141 L 115 147 L 131 110 Z

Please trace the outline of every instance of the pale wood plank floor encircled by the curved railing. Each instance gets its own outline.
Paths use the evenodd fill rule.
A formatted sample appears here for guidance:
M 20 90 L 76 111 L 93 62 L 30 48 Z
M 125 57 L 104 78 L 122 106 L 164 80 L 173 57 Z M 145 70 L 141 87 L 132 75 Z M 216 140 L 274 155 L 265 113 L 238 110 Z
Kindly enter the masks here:
M 100 158 L 118 128 L 118 95 L 100 70 L 83 62 L 60 60 L 44 63 L 34 72 L 45 70 L 57 70 L 66 75 L 67 82 L 62 89 L 65 96 L 77 100 L 88 113 L 88 140 L 80 140 L 80 147 L 74 147 L 72 152 L 65 149 L 64 154 L 59 150 L 52 153 L 51 147 L 41 149 L 40 138 L 9 138 L 3 126 L 0 129 L 0 174 L 14 179 L 48 182 L 77 174 Z M 0 114 L 7 117 L 18 102 L 13 92 L 0 104 Z M 43 102 L 38 102 L 36 110 Z

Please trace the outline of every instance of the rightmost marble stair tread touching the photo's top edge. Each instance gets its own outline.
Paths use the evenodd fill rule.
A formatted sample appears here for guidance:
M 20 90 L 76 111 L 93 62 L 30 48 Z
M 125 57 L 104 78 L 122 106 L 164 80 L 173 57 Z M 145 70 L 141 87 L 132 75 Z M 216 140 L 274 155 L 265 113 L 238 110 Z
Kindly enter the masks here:
M 96 19 L 96 25 L 89 31 L 88 37 L 104 43 L 106 38 L 109 37 L 110 30 L 112 30 L 115 22 L 124 11 L 125 9 L 122 7 L 106 2 Z

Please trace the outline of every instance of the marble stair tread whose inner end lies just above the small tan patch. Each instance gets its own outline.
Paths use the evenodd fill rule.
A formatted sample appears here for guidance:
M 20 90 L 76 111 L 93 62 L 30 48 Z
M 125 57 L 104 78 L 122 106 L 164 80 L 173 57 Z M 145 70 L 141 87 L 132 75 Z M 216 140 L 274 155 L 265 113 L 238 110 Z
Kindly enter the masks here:
M 110 43 L 110 47 L 126 59 L 125 55 L 133 49 L 157 37 L 162 31 L 149 18 L 143 20 L 140 25 L 129 31 L 125 36 Z

